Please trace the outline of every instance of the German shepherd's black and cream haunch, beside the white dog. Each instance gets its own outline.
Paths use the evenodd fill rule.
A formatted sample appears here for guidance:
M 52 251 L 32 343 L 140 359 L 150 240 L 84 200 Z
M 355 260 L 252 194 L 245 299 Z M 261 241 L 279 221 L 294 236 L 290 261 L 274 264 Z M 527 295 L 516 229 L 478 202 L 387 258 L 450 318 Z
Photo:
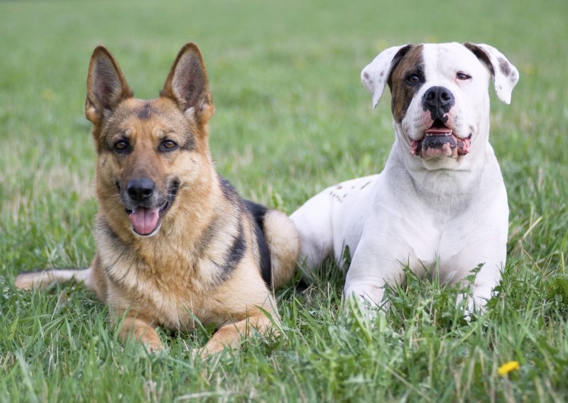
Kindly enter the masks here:
M 267 259 L 261 258 L 263 279 L 272 289 L 277 289 L 294 274 L 300 254 L 300 236 L 293 221 L 283 212 L 266 209 L 249 200 L 245 200 L 245 204 L 262 231 L 261 238 L 264 238 L 268 247 Z

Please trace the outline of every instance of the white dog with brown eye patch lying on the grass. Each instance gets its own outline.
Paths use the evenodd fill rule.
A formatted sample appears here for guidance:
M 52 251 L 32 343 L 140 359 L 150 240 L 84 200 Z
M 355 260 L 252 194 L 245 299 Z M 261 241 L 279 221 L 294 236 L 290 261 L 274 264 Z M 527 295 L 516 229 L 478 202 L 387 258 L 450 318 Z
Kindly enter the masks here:
M 417 275 L 459 282 L 479 265 L 469 309 L 484 307 L 506 260 L 508 204 L 489 137 L 489 80 L 510 103 L 518 71 L 489 45 L 403 45 L 361 72 L 378 104 L 391 89 L 395 143 L 381 174 L 342 182 L 292 215 L 307 270 L 349 247 L 345 294 L 379 304 Z M 437 272 L 434 272 L 438 270 Z

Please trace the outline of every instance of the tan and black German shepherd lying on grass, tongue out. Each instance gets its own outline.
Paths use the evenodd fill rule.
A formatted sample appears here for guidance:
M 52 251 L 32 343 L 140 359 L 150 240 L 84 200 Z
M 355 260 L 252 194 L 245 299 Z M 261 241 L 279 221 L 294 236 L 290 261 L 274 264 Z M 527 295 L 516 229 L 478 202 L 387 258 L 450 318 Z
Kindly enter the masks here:
M 161 350 L 155 328 L 216 324 L 200 350 L 236 348 L 252 329 L 278 332 L 272 289 L 291 275 L 299 241 L 288 216 L 244 201 L 214 168 L 214 111 L 195 43 L 178 54 L 158 99 L 133 98 L 114 57 L 94 49 L 85 115 L 97 147 L 97 254 L 84 270 L 18 275 L 22 289 L 84 282 L 109 304 L 122 340 Z

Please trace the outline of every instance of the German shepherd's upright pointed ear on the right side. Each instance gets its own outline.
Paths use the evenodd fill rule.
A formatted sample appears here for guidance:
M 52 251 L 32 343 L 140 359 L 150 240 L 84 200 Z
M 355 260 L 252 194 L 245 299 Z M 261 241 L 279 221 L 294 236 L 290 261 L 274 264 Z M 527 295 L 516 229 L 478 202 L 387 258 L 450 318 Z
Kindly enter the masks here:
M 202 125 L 211 118 L 215 107 L 203 57 L 195 43 L 186 43 L 178 53 L 160 96 L 173 99 L 186 115 Z

